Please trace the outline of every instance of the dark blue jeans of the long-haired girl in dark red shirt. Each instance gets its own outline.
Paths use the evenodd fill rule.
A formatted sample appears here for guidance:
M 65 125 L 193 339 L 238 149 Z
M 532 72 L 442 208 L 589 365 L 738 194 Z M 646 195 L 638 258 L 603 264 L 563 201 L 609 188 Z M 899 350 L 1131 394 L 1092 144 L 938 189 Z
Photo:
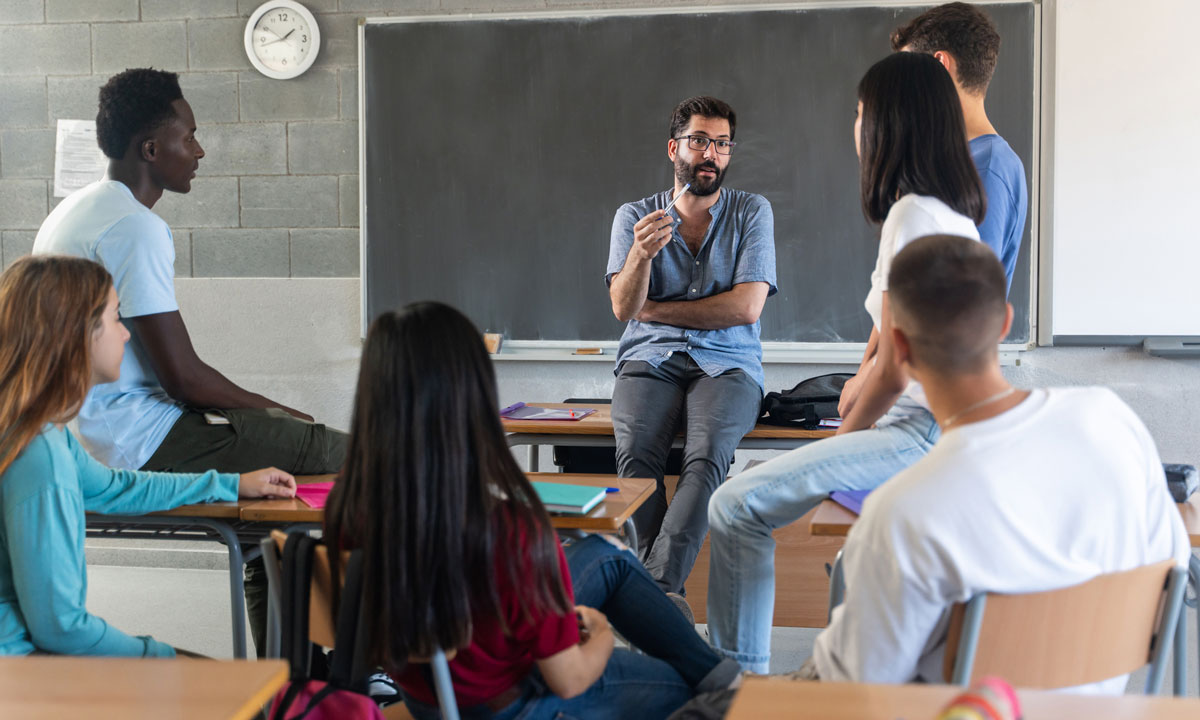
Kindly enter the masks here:
M 613 650 L 604 674 L 582 695 L 564 700 L 542 680 L 536 667 L 523 680 L 520 698 L 492 713 L 462 708 L 463 720 L 655 720 L 666 718 L 692 695 L 725 688 L 739 672 L 722 659 L 629 551 L 590 535 L 565 546 L 575 602 L 595 607 L 646 655 Z M 436 708 L 406 697 L 418 720 L 439 718 Z

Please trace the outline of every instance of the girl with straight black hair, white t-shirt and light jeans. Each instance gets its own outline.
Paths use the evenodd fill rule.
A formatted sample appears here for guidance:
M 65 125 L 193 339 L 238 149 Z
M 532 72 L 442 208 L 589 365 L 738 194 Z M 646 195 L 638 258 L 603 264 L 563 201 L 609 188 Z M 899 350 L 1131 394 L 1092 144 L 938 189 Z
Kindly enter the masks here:
M 846 384 L 838 437 L 778 456 L 714 493 L 708 630 L 746 670 L 767 672 L 775 601 L 772 532 L 834 490 L 869 490 L 925 455 L 938 430 L 917 383 L 892 352 L 888 269 L 893 256 L 931 233 L 978 239 L 986 200 L 971 163 L 954 83 L 930 55 L 896 53 L 858 85 L 854 145 L 868 220 L 882 223 L 866 311 L 874 330 Z

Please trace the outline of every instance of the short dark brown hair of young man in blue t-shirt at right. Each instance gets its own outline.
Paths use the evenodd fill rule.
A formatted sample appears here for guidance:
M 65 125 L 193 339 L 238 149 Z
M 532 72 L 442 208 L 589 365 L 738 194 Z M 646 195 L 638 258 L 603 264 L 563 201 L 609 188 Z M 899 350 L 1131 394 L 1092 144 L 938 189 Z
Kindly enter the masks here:
M 988 13 L 966 2 L 931 7 L 892 31 L 892 49 L 946 52 L 958 62 L 958 80 L 971 92 L 986 92 L 1000 58 L 1000 32 Z

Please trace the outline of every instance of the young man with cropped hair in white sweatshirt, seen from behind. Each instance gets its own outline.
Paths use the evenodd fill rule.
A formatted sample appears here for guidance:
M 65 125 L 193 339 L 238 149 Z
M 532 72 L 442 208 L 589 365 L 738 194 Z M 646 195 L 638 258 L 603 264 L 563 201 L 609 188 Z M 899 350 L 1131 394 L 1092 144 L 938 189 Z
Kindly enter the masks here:
M 923 238 L 892 263 L 896 362 L 925 389 L 937 445 L 872 492 L 846 540 L 846 600 L 816 674 L 942 682 L 947 611 L 978 593 L 1052 590 L 1190 547 L 1146 427 L 1104 388 L 1016 390 L 997 343 L 1003 270 L 971 240 Z M 1128 676 L 1075 688 L 1121 694 Z

